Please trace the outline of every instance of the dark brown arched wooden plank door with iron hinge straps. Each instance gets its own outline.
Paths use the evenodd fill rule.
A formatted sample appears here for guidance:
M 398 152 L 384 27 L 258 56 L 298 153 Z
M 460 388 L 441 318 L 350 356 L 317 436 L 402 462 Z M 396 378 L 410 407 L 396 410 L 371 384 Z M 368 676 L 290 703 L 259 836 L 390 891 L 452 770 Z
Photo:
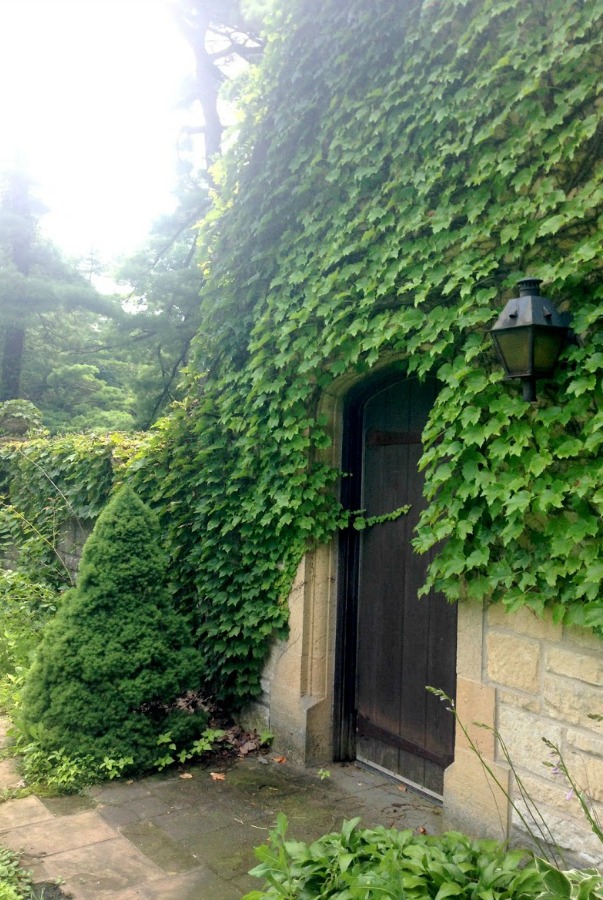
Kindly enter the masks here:
M 434 380 L 389 377 L 349 404 L 349 505 L 367 517 L 410 511 L 347 536 L 340 755 L 441 795 L 454 717 L 425 688 L 454 696 L 456 606 L 417 597 L 429 558 L 411 545 L 424 505 L 421 433 L 436 393 Z

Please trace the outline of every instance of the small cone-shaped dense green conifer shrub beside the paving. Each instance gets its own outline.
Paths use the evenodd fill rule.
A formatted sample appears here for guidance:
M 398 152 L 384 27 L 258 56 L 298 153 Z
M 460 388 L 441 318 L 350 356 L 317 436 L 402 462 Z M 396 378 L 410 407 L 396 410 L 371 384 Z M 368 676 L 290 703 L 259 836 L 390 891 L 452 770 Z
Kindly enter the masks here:
M 22 726 L 47 751 L 132 757 L 152 767 L 157 740 L 198 737 L 203 713 L 177 701 L 199 686 L 192 636 L 165 587 L 154 513 L 129 487 L 100 515 L 77 587 L 47 626 L 23 692 Z

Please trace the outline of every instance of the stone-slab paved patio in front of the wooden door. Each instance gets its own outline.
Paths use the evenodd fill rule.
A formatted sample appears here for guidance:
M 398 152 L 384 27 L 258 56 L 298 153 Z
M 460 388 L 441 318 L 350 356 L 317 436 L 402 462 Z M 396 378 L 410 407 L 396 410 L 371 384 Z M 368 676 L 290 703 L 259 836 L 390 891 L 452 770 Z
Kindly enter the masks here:
M 73 900 L 240 900 L 261 886 L 248 872 L 279 812 L 297 840 L 355 816 L 364 826 L 441 830 L 436 804 L 355 765 L 334 764 L 326 780 L 258 758 L 214 765 L 223 780 L 194 766 L 84 797 L 7 801 L 0 844 L 25 851 L 34 880 L 60 880 Z

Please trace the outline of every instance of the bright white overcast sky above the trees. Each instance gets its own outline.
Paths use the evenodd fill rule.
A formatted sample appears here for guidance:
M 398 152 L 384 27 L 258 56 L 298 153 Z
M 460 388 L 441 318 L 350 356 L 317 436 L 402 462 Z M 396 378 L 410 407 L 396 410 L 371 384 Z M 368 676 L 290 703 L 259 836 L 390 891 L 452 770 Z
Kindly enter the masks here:
M 0 0 L 0 169 L 21 154 L 67 254 L 131 252 L 172 207 L 192 71 L 166 0 Z

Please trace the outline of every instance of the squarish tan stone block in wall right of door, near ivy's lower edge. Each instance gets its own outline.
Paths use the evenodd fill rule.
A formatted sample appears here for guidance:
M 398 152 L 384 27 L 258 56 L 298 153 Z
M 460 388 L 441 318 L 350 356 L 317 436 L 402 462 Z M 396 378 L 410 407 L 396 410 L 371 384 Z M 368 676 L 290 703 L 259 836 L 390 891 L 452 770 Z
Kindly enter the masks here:
M 488 677 L 506 687 L 536 694 L 540 688 L 540 644 L 504 632 L 487 638 Z

